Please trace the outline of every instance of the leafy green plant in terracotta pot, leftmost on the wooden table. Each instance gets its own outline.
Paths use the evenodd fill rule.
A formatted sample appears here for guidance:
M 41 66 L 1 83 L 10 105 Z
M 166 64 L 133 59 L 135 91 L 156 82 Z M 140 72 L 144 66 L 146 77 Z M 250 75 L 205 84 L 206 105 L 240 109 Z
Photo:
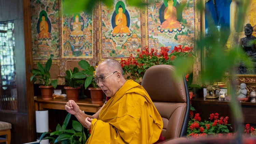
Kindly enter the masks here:
M 32 80 L 33 82 L 39 81 L 41 84 L 43 84 L 39 87 L 41 89 L 42 99 L 44 100 L 52 99 L 53 88 L 56 88 L 58 84 L 57 79 L 54 79 L 51 81 L 49 80 L 49 78 L 51 78 L 51 75 L 49 73 L 51 66 L 52 66 L 52 58 L 49 58 L 47 60 L 45 66 L 37 62 L 38 69 L 32 69 L 33 75 L 30 77 L 30 81 Z

